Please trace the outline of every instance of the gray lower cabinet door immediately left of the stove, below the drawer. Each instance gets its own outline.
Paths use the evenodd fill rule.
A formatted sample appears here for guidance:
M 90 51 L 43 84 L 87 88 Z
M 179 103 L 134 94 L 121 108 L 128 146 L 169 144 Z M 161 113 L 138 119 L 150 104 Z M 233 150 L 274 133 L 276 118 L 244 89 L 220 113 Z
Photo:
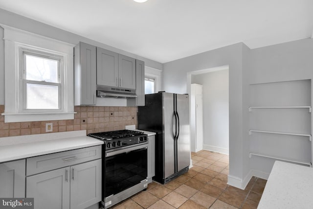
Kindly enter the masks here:
M 101 201 L 101 159 L 71 166 L 70 208 L 85 209 Z

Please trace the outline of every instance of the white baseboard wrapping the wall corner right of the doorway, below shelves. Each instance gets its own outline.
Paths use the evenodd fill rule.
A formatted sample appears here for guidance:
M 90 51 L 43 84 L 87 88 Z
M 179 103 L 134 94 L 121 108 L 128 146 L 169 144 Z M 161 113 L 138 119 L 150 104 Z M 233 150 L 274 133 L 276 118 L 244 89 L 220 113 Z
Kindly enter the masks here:
M 250 170 L 249 173 L 244 178 L 244 180 L 235 176 L 228 175 L 227 184 L 230 186 L 235 186 L 240 189 L 245 189 L 253 176 L 268 180 L 269 173 L 264 173 L 258 170 Z

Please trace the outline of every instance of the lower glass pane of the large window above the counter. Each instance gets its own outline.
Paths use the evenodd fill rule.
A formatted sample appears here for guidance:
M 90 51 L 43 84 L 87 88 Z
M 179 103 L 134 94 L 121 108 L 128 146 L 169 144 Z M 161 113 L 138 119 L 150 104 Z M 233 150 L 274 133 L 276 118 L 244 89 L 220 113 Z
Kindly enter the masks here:
M 27 83 L 26 109 L 59 109 L 59 87 Z

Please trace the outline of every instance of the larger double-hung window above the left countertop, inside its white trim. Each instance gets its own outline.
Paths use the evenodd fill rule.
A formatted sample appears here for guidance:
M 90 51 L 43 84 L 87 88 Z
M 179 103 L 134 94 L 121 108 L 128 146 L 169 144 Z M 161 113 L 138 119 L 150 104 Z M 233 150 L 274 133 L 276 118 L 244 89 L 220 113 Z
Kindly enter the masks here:
M 22 49 L 23 111 L 60 110 L 62 57 Z

